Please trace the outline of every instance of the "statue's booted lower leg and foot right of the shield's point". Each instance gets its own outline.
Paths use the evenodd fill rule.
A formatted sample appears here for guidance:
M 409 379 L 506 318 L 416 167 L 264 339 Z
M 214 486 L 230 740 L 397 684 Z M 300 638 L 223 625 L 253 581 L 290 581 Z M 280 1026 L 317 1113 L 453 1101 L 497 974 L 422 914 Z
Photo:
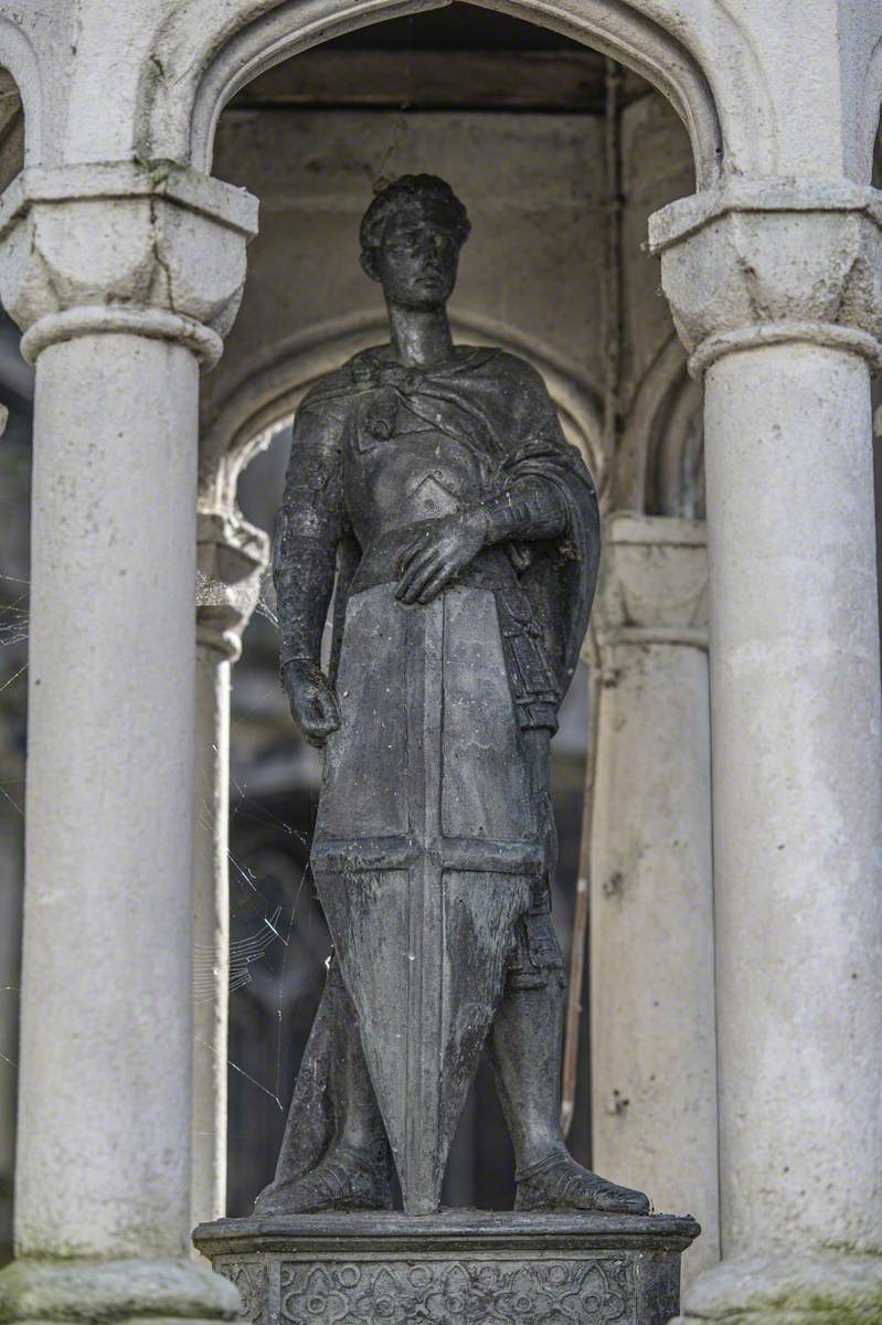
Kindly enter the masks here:
M 560 1130 L 563 990 L 509 988 L 487 1041 L 515 1149 L 515 1210 L 646 1215 L 649 1198 L 583 1169 Z

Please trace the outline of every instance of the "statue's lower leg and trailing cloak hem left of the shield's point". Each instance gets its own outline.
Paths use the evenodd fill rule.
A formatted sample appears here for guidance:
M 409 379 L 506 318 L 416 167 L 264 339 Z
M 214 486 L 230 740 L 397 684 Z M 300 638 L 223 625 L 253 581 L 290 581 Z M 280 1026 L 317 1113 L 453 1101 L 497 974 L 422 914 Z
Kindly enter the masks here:
M 256 1212 L 391 1210 L 391 1153 L 358 1015 L 334 962 L 285 1129 L 275 1178 Z

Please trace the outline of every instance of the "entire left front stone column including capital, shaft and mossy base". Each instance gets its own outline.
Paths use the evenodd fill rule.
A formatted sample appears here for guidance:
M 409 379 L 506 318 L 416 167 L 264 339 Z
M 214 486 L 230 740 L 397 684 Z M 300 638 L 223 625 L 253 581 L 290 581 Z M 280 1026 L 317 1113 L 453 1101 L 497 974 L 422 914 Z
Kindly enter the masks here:
M 36 362 L 16 1253 L 5 1320 L 229 1318 L 189 1259 L 199 366 L 254 200 L 32 168 L 0 293 Z

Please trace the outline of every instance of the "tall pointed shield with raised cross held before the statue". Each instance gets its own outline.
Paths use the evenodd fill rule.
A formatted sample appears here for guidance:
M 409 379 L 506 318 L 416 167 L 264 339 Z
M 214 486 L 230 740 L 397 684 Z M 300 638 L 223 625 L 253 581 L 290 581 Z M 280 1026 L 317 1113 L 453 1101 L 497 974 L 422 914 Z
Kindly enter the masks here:
M 430 1214 L 543 859 L 493 592 L 392 588 L 347 607 L 313 872 L 404 1208 Z

